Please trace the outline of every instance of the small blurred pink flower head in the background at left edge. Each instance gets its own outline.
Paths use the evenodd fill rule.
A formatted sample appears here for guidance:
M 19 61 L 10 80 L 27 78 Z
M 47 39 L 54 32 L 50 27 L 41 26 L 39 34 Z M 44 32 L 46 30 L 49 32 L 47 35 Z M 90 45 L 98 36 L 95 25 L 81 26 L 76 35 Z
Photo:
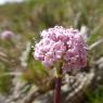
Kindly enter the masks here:
M 12 39 L 13 36 L 14 36 L 14 34 L 13 34 L 12 31 L 10 31 L 10 30 L 4 30 L 4 31 L 2 31 L 2 33 L 0 34 L 0 38 L 1 38 L 2 40 L 4 40 L 4 39 Z

